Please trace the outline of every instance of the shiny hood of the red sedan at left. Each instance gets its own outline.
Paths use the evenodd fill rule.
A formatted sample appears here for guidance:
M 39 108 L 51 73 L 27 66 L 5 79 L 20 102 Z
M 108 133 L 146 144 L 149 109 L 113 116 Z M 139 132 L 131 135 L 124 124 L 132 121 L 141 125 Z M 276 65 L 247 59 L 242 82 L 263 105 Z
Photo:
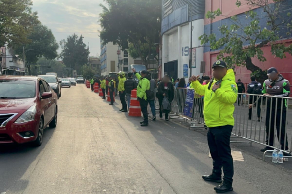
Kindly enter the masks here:
M 27 110 L 35 103 L 35 98 L 0 99 L 0 111 Z

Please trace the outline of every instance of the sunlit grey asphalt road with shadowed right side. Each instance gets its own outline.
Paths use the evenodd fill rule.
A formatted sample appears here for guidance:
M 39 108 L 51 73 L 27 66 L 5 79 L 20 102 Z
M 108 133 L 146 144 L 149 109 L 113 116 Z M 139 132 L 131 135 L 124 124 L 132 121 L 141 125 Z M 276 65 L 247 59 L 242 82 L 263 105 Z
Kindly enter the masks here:
M 160 119 L 142 128 L 119 99 L 110 106 L 84 84 L 62 88 L 58 104 L 58 125 L 46 128 L 41 147 L 0 147 L 0 193 L 215 193 L 201 179 L 212 169 L 206 131 Z M 291 193 L 283 165 L 243 156 L 230 193 Z

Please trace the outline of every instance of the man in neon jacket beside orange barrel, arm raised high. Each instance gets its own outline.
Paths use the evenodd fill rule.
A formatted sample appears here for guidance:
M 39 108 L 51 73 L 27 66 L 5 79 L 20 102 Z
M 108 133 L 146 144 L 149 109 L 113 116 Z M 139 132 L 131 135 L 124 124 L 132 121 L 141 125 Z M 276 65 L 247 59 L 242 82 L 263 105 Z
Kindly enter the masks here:
M 142 70 L 141 75 L 132 68 L 133 73 L 139 79 L 137 86 L 137 100 L 140 102 L 141 111 L 143 114 L 143 121 L 140 122 L 141 126 L 148 126 L 148 99 L 146 95 L 146 90 L 150 90 L 150 80 L 151 74 L 147 70 Z

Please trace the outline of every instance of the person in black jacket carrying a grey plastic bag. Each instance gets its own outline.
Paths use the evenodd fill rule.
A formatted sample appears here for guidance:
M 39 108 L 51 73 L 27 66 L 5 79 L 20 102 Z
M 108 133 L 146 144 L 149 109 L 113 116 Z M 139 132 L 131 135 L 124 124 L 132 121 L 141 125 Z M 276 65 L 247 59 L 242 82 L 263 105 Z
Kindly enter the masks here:
M 165 75 L 162 78 L 162 81 L 158 85 L 157 98 L 159 102 L 159 117 L 160 118 L 162 118 L 162 108 L 161 108 L 162 100 L 165 96 L 168 98 L 168 101 L 171 104 L 174 98 L 174 89 L 173 89 L 173 84 L 168 75 Z M 169 120 L 168 113 L 165 113 L 165 120 L 167 121 Z

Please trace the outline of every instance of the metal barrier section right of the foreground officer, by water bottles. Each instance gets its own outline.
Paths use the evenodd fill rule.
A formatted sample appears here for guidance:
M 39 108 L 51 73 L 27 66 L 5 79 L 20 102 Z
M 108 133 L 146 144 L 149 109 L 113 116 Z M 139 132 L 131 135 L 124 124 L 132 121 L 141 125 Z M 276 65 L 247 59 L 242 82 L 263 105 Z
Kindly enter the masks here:
M 292 111 L 288 108 L 289 97 L 277 97 L 255 94 L 238 94 L 234 110 L 233 138 L 242 138 L 247 141 L 230 141 L 232 143 L 258 143 L 272 150 L 263 154 L 263 160 L 267 152 L 273 149 L 281 149 L 291 153 L 292 143 Z M 255 106 L 249 107 L 249 104 Z M 286 105 L 285 105 L 286 104 Z M 277 132 L 277 133 L 276 133 Z M 283 138 L 284 136 L 284 138 Z M 277 137 L 277 138 L 276 138 Z M 287 149 L 290 143 L 290 149 Z M 292 156 L 284 156 L 291 158 Z

